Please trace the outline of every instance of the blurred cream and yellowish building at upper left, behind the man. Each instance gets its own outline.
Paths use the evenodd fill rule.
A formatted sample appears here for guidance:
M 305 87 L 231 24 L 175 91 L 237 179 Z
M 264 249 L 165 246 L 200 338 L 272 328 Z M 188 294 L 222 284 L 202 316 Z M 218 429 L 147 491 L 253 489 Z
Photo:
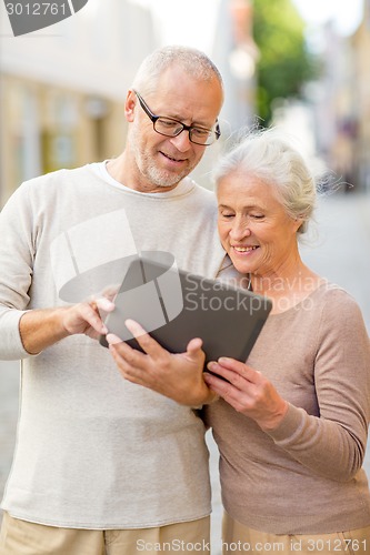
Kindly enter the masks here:
M 0 26 L 1 206 L 26 179 L 121 152 L 126 90 L 158 38 L 134 0 L 89 0 L 17 38 L 7 16 Z

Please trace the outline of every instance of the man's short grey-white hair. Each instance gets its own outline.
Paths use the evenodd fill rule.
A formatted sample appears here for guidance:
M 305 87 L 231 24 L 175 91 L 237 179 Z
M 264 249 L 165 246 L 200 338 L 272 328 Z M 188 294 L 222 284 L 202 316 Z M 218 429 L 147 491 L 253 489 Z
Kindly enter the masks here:
M 149 54 L 133 79 L 133 89 L 142 94 L 154 92 L 160 77 L 172 64 L 200 81 L 211 81 L 216 78 L 223 90 L 221 74 L 208 56 L 194 48 L 182 46 L 162 47 Z

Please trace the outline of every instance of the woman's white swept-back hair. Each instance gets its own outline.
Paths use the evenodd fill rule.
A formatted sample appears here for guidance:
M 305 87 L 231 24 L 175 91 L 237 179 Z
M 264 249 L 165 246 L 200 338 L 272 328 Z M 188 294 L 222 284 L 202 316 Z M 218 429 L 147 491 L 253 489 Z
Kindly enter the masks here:
M 277 128 L 249 132 L 217 164 L 212 178 L 218 183 L 238 172 L 270 184 L 292 219 L 301 219 L 304 233 L 317 202 L 316 179 L 288 135 Z

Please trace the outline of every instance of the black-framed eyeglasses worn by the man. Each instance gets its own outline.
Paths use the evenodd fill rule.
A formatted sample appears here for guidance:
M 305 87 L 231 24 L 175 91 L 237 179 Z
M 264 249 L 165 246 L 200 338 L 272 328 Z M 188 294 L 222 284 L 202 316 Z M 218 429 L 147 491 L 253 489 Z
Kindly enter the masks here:
M 143 98 L 136 90 L 133 90 L 133 92 L 138 97 L 141 108 L 152 121 L 154 131 L 157 131 L 160 135 L 177 137 L 182 133 L 182 131 L 189 131 L 189 141 L 202 147 L 209 147 L 220 138 L 221 131 L 218 121 L 216 122 L 216 128 L 213 130 L 186 125 L 181 121 L 173 120 L 172 118 L 154 115 Z

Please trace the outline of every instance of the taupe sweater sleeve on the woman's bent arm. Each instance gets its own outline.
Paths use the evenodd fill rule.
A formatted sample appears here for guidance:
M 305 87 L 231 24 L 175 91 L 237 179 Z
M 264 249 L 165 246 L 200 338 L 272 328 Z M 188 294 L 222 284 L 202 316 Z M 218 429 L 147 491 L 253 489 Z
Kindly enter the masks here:
M 320 415 L 289 405 L 269 432 L 306 467 L 338 482 L 361 468 L 370 418 L 370 344 L 357 303 L 336 290 L 322 306 L 314 363 Z

